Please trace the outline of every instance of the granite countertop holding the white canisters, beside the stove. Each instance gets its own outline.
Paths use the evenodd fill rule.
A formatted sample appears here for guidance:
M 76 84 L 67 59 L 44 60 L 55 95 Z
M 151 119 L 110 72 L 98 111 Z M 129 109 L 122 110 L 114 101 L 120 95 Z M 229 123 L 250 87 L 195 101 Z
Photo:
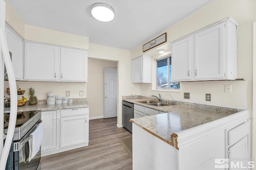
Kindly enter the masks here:
M 18 111 L 19 110 L 23 110 L 23 111 L 32 111 L 32 110 L 49 111 L 49 110 L 71 109 L 71 108 L 89 107 L 89 106 L 90 106 L 90 104 L 87 101 L 73 102 L 73 103 L 66 103 L 66 104 L 37 104 L 37 105 L 25 105 L 25 106 L 18 107 Z

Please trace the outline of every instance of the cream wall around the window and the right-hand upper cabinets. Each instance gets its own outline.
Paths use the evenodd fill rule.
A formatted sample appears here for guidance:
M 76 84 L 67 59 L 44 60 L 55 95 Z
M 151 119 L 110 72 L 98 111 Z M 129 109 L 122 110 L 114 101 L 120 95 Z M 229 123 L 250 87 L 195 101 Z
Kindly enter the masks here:
M 202 27 L 223 20 L 228 17 L 234 18 L 239 23 L 238 26 L 238 78 L 244 78 L 246 81 L 210 81 L 210 82 L 183 82 L 179 92 L 164 92 L 152 90 L 151 84 L 141 84 L 141 95 L 152 95 L 160 92 L 163 98 L 170 98 L 166 94 L 170 93 L 175 100 L 196 102 L 202 104 L 213 104 L 217 106 L 236 107 L 248 109 L 252 115 L 253 121 L 255 113 L 252 113 L 252 22 L 256 20 L 256 6 L 254 1 L 250 0 L 215 0 L 204 6 L 194 14 L 188 16 L 182 21 L 169 27 L 155 37 L 167 32 L 167 42 L 163 45 L 169 46 L 170 42 L 184 37 Z M 153 39 L 152 37 L 151 39 Z M 151 40 L 149 39 L 149 41 Z M 147 41 L 148 42 L 148 41 Z M 145 42 L 146 43 L 146 42 Z M 131 51 L 131 59 L 142 55 L 142 43 Z M 155 54 L 156 47 L 144 55 Z M 170 51 L 167 51 L 170 52 Z M 155 60 L 158 56 L 153 55 L 152 68 L 153 79 L 156 77 Z M 155 83 L 155 82 L 154 82 Z M 224 93 L 224 85 L 232 85 L 232 93 Z M 154 89 L 154 88 L 153 88 Z M 183 99 L 183 92 L 190 92 L 190 100 Z M 206 102 L 205 93 L 212 94 L 212 102 Z M 253 122 L 252 121 L 252 122 Z M 256 131 L 256 129 L 253 129 Z M 253 133 L 252 133 L 253 135 Z M 252 157 L 256 158 L 256 137 L 252 136 Z

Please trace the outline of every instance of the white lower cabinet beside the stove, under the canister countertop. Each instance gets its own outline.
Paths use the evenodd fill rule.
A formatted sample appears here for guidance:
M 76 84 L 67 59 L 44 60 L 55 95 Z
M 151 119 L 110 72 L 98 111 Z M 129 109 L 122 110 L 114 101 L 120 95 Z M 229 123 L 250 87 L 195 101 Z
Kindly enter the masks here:
M 89 107 L 42 111 L 42 156 L 88 146 Z

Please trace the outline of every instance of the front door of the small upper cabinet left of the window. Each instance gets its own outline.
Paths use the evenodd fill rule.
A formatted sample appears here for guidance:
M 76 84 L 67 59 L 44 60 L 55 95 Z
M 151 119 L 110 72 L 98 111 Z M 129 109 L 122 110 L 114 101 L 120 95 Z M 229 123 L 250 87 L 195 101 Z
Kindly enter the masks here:
M 142 57 L 132 60 L 132 83 L 142 82 Z

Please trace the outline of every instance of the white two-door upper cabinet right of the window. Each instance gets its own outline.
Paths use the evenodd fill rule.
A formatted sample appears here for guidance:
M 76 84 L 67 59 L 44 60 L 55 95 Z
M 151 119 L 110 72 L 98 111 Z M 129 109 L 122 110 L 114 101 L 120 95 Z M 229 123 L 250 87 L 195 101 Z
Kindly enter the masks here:
M 237 25 L 227 18 L 174 41 L 172 81 L 235 80 Z

